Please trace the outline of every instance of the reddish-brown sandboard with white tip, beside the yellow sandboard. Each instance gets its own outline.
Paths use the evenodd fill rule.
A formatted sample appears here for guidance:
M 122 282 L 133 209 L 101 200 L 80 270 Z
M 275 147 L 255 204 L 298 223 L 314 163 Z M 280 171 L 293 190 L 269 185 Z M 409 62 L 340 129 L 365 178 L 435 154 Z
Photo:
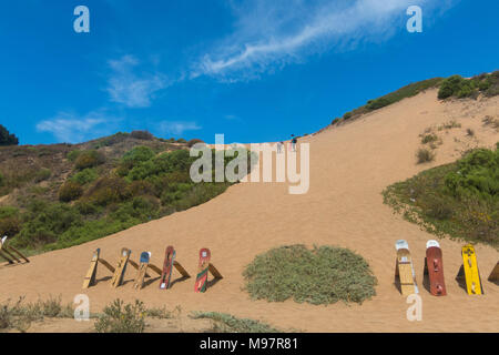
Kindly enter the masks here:
M 434 296 L 447 295 L 442 254 L 437 241 L 430 240 L 426 243 L 425 274 L 429 277 L 430 294 Z

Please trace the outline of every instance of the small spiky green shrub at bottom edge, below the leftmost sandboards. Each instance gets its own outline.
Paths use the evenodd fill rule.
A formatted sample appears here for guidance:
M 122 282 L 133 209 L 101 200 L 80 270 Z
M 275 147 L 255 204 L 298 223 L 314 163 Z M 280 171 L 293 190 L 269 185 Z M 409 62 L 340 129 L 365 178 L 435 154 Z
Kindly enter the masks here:
M 139 300 L 126 305 L 115 300 L 103 313 L 94 324 L 98 333 L 143 333 L 145 329 L 145 307 Z

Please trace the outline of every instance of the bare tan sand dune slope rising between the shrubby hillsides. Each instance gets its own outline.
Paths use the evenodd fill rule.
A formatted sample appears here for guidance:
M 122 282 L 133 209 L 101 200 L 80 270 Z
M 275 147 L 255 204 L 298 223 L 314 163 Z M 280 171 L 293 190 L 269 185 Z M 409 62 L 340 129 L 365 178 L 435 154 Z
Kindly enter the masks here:
M 35 300 L 61 294 L 64 301 L 72 301 L 82 292 L 82 280 L 95 247 L 101 247 L 102 256 L 111 263 L 116 262 L 122 246 L 132 248 L 134 260 L 147 250 L 152 252 L 152 262 L 161 266 L 165 246 L 173 244 L 177 260 L 195 273 L 197 252 L 207 246 L 214 264 L 225 276 L 207 293 L 195 294 L 192 278 L 175 283 L 166 292 L 157 288 L 156 280 L 136 292 L 131 282 L 135 272 L 129 267 L 124 286 L 113 290 L 104 280 L 85 292 L 92 310 L 98 311 L 115 297 L 126 301 L 140 297 L 147 306 L 181 305 L 184 311 L 227 312 L 309 332 L 497 332 L 499 287 L 486 281 L 499 258 L 499 253 L 491 247 L 477 246 L 486 294 L 468 296 L 454 280 L 462 243 L 441 241 L 449 295 L 435 297 L 422 290 L 421 322 L 406 320 L 408 304 L 393 284 L 395 241 L 409 242 L 420 283 L 425 244 L 434 236 L 393 214 L 383 204 L 380 192 L 424 169 L 456 160 L 459 151 L 477 144 L 492 146 L 498 141 L 497 132 L 481 124 L 486 114 L 498 115 L 498 98 L 441 103 L 436 95 L 430 90 L 304 139 L 310 143 L 307 194 L 291 195 L 283 183 L 237 184 L 189 211 L 84 245 L 35 256 L 28 265 L 1 267 L 0 300 L 18 295 Z M 436 162 L 417 165 L 418 134 L 451 119 L 462 128 L 439 132 L 444 144 L 437 150 Z M 475 138 L 466 136 L 467 128 L 475 130 Z M 258 253 L 293 243 L 333 244 L 360 253 L 378 278 L 377 296 L 363 305 L 327 307 L 251 301 L 241 290 L 244 266 Z M 98 277 L 108 275 L 100 266 Z

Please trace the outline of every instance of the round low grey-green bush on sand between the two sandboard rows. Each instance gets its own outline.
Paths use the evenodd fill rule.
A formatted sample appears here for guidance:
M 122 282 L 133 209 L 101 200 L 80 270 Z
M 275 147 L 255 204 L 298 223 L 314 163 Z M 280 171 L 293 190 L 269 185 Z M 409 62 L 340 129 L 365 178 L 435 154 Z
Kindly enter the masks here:
M 376 295 L 377 284 L 367 262 L 354 252 L 333 246 L 291 245 L 257 255 L 244 273 L 254 300 L 330 304 L 361 303 Z

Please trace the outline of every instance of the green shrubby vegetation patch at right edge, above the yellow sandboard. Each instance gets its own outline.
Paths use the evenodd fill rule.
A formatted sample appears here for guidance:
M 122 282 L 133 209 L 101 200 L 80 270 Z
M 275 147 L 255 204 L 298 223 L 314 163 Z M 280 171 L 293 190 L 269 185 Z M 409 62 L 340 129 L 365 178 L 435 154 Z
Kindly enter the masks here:
M 499 143 L 395 183 L 384 195 L 430 233 L 499 247 Z

